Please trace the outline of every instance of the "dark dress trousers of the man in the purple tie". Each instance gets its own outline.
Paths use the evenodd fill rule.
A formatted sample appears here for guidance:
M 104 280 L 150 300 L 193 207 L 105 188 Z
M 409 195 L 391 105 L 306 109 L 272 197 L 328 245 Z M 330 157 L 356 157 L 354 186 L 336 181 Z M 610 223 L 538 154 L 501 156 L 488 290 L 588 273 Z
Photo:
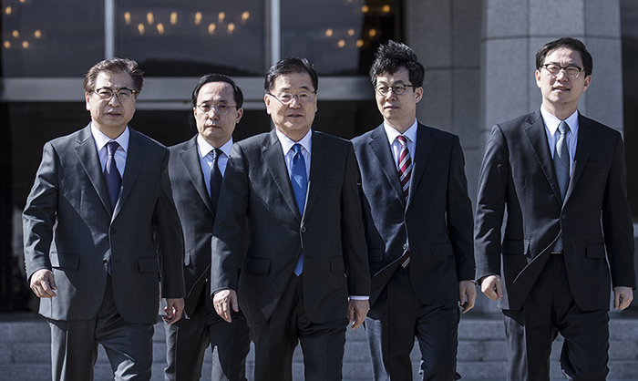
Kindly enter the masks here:
M 54 381 L 90 381 L 104 346 L 116 381 L 147 381 L 153 363 L 153 325 L 129 324 L 118 313 L 108 276 L 98 315 L 90 320 L 47 319 Z

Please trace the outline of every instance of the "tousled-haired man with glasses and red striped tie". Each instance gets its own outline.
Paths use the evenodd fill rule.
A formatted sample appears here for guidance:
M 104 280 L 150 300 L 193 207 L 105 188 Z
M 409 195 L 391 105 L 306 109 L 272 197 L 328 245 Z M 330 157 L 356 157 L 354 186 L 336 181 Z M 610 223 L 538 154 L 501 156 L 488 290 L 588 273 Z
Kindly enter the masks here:
M 425 68 L 408 46 L 379 47 L 370 68 L 381 126 L 353 139 L 361 170 L 376 381 L 456 380 L 458 321 L 474 306 L 472 206 L 458 137 L 417 122 Z

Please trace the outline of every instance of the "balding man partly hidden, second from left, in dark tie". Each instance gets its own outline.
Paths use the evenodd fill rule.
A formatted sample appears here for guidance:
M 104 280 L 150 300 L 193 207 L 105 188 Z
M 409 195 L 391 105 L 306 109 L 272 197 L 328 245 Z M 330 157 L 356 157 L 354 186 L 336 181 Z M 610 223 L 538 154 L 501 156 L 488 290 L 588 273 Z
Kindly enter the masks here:
M 183 263 L 188 316 L 166 324 L 165 379 L 199 381 L 211 345 L 213 381 L 245 381 L 251 339 L 241 311 L 227 323 L 211 301 L 211 237 L 219 209 L 222 173 L 232 147 L 232 132 L 243 116 L 243 95 L 231 77 L 208 74 L 192 91 L 197 134 L 170 147 L 169 177 L 184 233 Z M 215 351 L 215 348 L 217 350 Z

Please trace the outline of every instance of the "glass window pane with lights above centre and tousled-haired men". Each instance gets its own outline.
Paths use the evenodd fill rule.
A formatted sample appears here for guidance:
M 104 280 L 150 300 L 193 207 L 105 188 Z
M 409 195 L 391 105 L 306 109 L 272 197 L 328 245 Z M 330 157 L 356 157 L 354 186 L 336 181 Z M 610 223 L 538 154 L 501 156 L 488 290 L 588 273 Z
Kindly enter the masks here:
M 282 0 L 282 57 L 320 75 L 367 76 L 376 48 L 400 39 L 399 0 Z

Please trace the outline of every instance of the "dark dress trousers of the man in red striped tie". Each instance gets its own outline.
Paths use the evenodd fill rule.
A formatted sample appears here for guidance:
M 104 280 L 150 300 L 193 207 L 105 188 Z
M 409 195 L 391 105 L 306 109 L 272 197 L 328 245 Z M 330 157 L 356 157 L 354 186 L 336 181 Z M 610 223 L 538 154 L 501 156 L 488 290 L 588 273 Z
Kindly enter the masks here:
M 365 318 L 375 381 L 412 381 L 415 336 L 423 379 L 458 380 L 459 320 L 457 301 L 422 304 L 409 271 L 398 268 Z

